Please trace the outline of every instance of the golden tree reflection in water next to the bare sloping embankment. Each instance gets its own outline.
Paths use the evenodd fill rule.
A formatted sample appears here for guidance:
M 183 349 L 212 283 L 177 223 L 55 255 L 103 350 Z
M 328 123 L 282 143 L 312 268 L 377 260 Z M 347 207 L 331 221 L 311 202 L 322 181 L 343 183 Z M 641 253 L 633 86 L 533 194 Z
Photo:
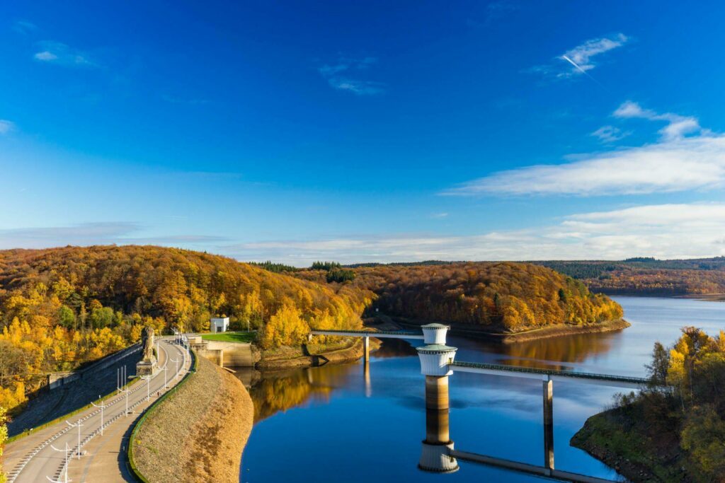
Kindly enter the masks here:
M 249 390 L 254 401 L 254 422 L 308 400 L 328 402 L 332 391 L 345 385 L 356 368 L 360 366 L 342 364 L 262 373 L 260 381 Z

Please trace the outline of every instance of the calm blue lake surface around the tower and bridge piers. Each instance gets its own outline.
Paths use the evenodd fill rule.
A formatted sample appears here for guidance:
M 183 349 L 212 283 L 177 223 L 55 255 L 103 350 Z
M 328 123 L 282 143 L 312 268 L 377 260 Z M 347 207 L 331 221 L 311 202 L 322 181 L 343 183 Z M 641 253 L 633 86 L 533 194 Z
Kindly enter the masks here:
M 670 344 L 684 325 L 725 328 L 725 303 L 615 297 L 631 327 L 515 345 L 449 337 L 456 360 L 644 376 L 653 343 Z M 459 461 L 454 474 L 418 469 L 425 437 L 424 379 L 412 345 L 392 340 L 363 364 L 263 377 L 250 390 L 255 425 L 240 482 L 534 482 L 533 476 Z M 411 345 L 412 344 L 412 345 Z M 605 408 L 616 388 L 555 382 L 555 467 L 617 479 L 569 440 Z M 543 464 L 541 382 L 456 373 L 450 377 L 450 434 L 457 450 Z

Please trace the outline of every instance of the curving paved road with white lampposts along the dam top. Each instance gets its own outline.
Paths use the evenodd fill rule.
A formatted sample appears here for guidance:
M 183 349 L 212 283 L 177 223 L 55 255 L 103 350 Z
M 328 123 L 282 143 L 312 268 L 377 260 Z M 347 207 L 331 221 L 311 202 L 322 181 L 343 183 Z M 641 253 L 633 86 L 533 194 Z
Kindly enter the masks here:
M 8 482 L 64 482 L 66 471 L 69 481 L 76 483 L 124 481 L 124 450 L 130 428 L 139 414 L 157 399 L 157 393 L 165 392 L 165 378 L 167 388 L 171 388 L 188 370 L 188 356 L 186 367 L 182 367 L 184 349 L 173 343 L 173 338 L 159 340 L 158 347 L 158 365 L 166 365 L 166 375 L 165 371 L 159 370 L 149 381 L 139 380 L 130 385 L 128 394 L 120 392 L 104 401 L 102 435 L 101 409 L 90 408 L 69 418 L 72 424 L 78 424 L 80 420 L 80 458 L 78 427 L 70 427 L 62 421 L 7 445 L 4 467 Z M 178 361 L 178 373 L 175 361 Z

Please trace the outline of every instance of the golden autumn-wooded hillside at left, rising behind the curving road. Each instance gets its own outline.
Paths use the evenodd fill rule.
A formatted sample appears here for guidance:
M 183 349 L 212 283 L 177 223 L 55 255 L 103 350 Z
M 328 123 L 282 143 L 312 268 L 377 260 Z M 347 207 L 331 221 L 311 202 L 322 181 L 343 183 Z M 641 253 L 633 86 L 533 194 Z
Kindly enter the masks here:
M 372 296 L 175 248 L 0 251 L 0 406 L 22 404 L 49 371 L 136 342 L 147 325 L 204 331 L 229 316 L 275 348 L 302 343 L 310 327 L 360 328 Z

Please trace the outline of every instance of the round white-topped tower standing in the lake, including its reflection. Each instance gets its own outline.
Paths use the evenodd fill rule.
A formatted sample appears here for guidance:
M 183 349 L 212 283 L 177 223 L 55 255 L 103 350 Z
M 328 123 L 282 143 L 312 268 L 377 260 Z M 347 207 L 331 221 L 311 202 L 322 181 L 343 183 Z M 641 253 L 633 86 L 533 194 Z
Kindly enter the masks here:
M 449 327 L 428 324 L 421 327 L 426 345 L 418 347 L 421 373 L 426 376 L 426 439 L 423 440 L 418 468 L 435 473 L 452 473 L 458 462 L 450 455 L 453 442 L 449 432 L 448 364 L 456 348 L 445 345 Z

